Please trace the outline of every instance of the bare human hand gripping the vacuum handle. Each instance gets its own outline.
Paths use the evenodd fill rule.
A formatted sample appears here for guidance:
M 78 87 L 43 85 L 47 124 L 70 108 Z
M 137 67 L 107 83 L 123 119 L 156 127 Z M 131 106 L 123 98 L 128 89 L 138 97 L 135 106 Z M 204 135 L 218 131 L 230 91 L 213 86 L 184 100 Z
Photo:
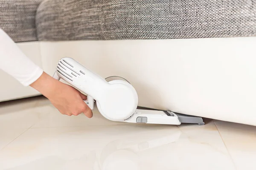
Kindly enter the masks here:
M 46 96 L 62 114 L 77 116 L 80 113 L 84 113 L 88 118 L 93 116 L 91 109 L 83 101 L 87 99 L 87 96 L 81 94 L 76 88 L 66 85 L 46 73 L 43 73 L 30 86 Z

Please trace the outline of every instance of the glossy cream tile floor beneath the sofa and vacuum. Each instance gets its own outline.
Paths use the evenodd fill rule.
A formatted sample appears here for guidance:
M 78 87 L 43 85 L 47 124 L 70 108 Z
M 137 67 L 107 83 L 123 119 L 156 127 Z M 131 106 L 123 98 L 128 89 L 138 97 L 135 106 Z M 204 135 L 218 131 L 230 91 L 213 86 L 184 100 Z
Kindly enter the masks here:
M 0 170 L 256 169 L 256 127 L 64 116 L 44 97 L 0 103 Z

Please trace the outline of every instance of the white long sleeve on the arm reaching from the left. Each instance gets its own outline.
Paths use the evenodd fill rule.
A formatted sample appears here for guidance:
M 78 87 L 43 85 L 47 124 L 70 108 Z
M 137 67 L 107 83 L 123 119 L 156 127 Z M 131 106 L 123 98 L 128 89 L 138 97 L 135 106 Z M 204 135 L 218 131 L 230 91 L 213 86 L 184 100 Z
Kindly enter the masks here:
M 0 69 L 24 86 L 35 82 L 43 70 L 32 62 L 15 42 L 0 28 Z

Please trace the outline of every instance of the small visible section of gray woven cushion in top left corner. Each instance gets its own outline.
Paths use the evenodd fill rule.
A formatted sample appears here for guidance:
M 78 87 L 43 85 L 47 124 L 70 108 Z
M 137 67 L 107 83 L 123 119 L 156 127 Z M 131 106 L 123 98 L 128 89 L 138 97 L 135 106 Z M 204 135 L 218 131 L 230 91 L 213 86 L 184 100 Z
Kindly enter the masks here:
M 37 40 L 35 14 L 40 0 L 0 0 L 0 28 L 15 42 Z

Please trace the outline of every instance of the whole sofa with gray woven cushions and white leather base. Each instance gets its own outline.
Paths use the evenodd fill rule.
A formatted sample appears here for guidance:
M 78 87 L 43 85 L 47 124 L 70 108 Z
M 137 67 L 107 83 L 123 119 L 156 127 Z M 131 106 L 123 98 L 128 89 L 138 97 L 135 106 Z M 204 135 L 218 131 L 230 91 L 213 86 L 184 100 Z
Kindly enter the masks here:
M 0 0 L 0 28 L 50 75 L 73 57 L 142 107 L 256 125 L 256 0 Z M 0 77 L 0 102 L 40 95 Z

